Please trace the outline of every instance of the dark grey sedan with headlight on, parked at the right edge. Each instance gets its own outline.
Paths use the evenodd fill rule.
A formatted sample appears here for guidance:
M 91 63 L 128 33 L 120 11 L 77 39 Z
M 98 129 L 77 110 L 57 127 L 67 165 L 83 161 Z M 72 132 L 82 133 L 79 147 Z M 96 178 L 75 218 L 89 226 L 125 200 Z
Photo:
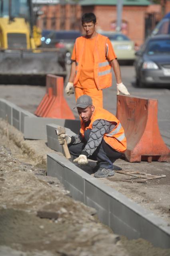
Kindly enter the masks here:
M 170 35 L 155 35 L 135 53 L 136 86 L 170 85 Z

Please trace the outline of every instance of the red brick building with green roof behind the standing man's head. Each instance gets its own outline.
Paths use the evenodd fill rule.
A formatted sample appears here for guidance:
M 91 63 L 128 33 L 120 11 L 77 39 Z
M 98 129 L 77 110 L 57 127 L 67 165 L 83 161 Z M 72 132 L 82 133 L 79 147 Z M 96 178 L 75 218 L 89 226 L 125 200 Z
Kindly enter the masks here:
M 116 30 L 117 0 L 83 0 L 80 1 L 82 13 L 94 12 L 98 28 Z M 122 8 L 122 33 L 126 34 L 138 45 L 145 39 L 145 15 L 150 5 L 148 0 L 124 0 Z

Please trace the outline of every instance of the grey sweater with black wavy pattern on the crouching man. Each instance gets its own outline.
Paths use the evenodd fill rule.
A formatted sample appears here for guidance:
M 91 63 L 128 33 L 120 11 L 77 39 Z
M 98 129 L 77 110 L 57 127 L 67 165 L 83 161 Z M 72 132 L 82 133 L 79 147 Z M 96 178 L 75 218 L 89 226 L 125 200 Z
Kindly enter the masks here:
M 103 119 L 97 119 L 96 121 L 94 121 L 92 125 L 92 130 L 90 132 L 89 140 L 84 147 L 82 154 L 86 155 L 87 157 L 91 156 L 102 142 L 104 134 L 111 132 L 111 130 L 113 130 L 115 126 L 116 123 L 113 124 Z M 70 143 L 78 144 L 80 142 L 83 142 L 83 137 L 81 136 L 81 134 L 76 134 L 75 136 L 72 136 Z

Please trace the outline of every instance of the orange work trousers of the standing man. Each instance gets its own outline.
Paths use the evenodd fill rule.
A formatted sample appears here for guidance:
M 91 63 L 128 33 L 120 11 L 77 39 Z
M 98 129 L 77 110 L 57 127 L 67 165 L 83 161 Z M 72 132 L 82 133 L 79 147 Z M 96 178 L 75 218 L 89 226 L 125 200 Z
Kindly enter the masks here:
M 97 88 L 82 89 L 79 87 L 75 87 L 76 101 L 80 96 L 84 94 L 89 95 L 92 98 L 93 105 L 96 108 L 103 108 L 103 91 L 102 90 L 98 90 Z

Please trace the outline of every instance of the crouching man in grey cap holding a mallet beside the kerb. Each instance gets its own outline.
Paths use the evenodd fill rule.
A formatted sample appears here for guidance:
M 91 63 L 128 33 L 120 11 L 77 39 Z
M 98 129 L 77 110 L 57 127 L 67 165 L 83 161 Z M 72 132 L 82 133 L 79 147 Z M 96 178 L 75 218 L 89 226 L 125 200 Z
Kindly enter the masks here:
M 102 108 L 94 108 L 92 98 L 82 95 L 77 99 L 76 107 L 81 118 L 80 134 L 58 136 L 60 144 L 64 138 L 70 154 L 80 165 L 88 164 L 88 158 L 97 161 L 94 177 L 102 178 L 114 175 L 113 163 L 126 150 L 126 137 L 120 121 Z

